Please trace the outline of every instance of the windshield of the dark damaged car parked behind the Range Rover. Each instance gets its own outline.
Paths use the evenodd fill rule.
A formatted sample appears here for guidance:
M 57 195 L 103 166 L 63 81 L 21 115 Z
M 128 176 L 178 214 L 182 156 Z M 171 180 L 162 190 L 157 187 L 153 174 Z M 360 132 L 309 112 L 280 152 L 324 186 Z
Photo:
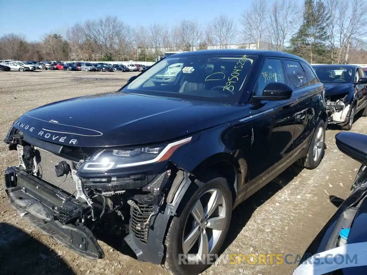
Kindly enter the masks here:
M 351 83 L 353 69 L 343 66 L 313 66 L 317 76 L 323 83 Z

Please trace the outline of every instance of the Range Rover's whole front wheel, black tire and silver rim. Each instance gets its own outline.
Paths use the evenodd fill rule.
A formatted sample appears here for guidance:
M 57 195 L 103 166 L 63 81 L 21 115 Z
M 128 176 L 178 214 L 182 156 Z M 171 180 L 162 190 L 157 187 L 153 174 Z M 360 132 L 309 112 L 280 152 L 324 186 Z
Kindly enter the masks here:
M 203 186 L 185 194 L 181 215 L 168 228 L 164 267 L 172 274 L 196 275 L 215 261 L 232 217 L 232 192 L 228 181 L 208 173 Z

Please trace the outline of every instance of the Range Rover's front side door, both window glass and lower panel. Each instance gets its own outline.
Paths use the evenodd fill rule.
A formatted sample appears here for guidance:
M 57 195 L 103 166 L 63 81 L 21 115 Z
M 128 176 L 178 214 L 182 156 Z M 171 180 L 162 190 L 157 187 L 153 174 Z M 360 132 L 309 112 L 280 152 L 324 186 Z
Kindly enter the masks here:
M 253 94 L 261 95 L 269 83 L 286 83 L 285 70 L 280 58 L 266 58 L 261 66 Z M 253 103 L 252 155 L 248 163 L 247 195 L 264 186 L 283 168 L 292 155 L 297 98 L 263 100 Z

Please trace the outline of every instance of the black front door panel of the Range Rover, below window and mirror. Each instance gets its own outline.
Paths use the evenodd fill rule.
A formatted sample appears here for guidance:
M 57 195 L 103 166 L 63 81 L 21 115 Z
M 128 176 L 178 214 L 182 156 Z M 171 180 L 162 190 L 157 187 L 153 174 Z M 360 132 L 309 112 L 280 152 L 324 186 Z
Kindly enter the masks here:
M 265 103 L 265 101 L 264 101 Z M 252 193 L 273 179 L 273 175 L 283 169 L 293 152 L 293 134 L 297 99 L 268 101 L 257 111 L 252 120 L 251 162 L 248 163 L 248 193 Z

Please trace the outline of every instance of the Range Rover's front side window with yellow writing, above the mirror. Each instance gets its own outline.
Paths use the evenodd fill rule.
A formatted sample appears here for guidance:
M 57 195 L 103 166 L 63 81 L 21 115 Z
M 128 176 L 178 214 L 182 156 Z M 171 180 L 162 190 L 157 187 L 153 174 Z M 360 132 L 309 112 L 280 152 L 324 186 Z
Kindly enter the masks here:
M 255 84 L 255 95 L 262 95 L 262 91 L 269 83 L 284 81 L 284 71 L 280 59 L 266 59 L 261 67 Z

